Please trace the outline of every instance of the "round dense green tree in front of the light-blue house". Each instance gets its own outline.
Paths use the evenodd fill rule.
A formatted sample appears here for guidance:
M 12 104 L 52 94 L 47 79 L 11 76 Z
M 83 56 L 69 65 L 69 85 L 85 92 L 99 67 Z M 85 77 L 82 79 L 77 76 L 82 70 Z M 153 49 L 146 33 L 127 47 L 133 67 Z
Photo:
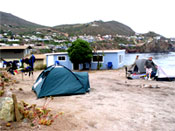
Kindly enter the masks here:
M 77 39 L 68 48 L 68 55 L 73 64 L 83 64 L 83 69 L 85 69 L 85 63 L 90 64 L 93 56 L 90 43 L 82 39 Z

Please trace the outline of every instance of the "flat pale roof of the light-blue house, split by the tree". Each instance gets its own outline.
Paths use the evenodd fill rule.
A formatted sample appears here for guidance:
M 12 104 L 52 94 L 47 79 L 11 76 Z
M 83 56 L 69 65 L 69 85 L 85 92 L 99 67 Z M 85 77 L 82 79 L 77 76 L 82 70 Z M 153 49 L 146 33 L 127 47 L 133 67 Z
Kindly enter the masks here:
M 125 50 L 97 50 L 97 53 L 116 53 L 116 52 L 125 52 Z M 93 53 L 95 53 L 93 51 Z M 57 52 L 57 53 L 47 53 L 47 55 L 66 55 L 68 52 Z

